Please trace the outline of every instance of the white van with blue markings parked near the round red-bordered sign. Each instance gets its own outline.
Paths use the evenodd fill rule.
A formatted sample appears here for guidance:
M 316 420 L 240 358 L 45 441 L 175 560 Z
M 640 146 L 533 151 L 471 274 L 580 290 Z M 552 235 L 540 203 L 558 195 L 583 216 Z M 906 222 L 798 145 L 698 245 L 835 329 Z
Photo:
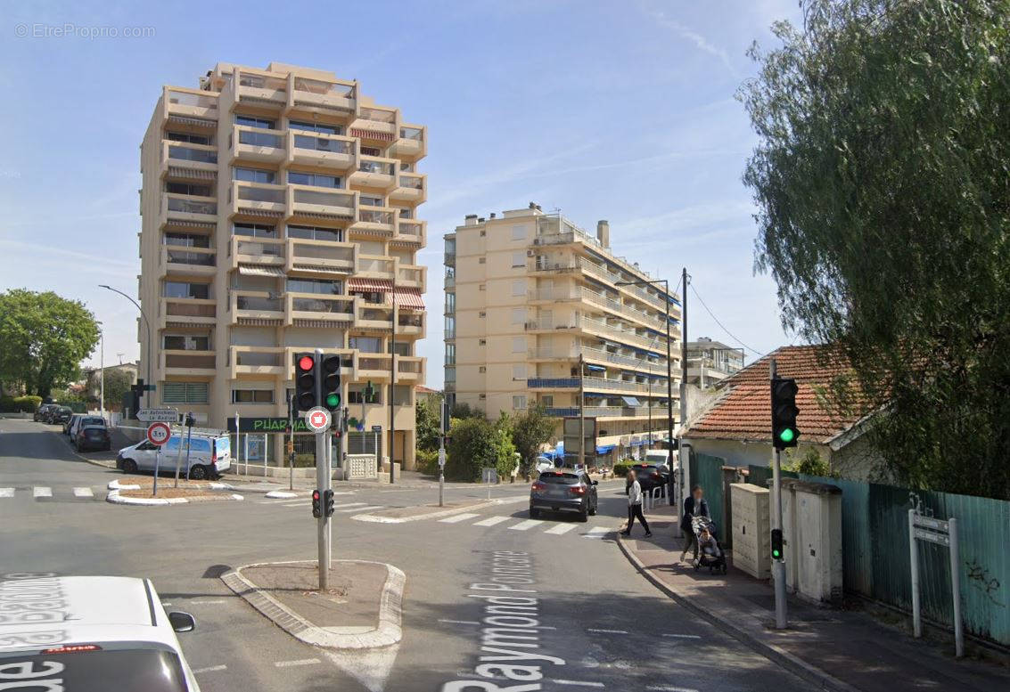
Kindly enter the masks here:
M 186 437 L 173 435 L 162 446 L 158 459 L 159 471 L 174 471 L 182 443 L 183 455 L 179 463 L 179 473 L 186 474 Z M 146 440 L 124 447 L 116 456 L 116 468 L 123 473 L 154 471 L 158 447 Z M 216 478 L 221 472 L 231 468 L 231 439 L 227 435 L 205 435 L 194 433 L 189 448 L 189 477 L 193 480 Z

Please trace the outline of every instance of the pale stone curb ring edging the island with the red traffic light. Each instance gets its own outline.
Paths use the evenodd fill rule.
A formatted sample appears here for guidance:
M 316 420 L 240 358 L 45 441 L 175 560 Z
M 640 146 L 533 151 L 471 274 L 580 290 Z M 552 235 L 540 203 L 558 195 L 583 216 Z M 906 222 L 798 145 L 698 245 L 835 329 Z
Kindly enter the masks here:
M 403 589 L 407 575 L 402 570 L 384 562 L 372 560 L 334 560 L 334 563 L 357 562 L 386 566 L 386 583 L 383 585 L 379 603 L 379 626 L 361 631 L 361 627 L 320 627 L 288 608 L 273 596 L 261 591 L 252 582 L 242 576 L 246 567 L 264 565 L 292 565 L 311 563 L 310 560 L 289 562 L 261 562 L 244 565 L 221 575 L 221 581 L 236 595 L 244 598 L 274 624 L 305 644 L 334 650 L 375 649 L 397 644 L 403 638 Z

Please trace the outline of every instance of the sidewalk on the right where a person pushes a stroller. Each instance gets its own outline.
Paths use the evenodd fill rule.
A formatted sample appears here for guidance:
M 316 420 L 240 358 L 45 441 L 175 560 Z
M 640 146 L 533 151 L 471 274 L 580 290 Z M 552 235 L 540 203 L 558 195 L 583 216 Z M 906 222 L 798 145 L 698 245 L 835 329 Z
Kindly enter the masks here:
M 789 628 L 775 629 L 775 596 L 769 583 L 733 569 L 731 555 L 726 576 L 710 575 L 705 568 L 696 572 L 688 562 L 679 562 L 681 541 L 672 538 L 675 508 L 658 506 L 646 518 L 651 539 L 641 538 L 638 526 L 632 538 L 618 537 L 621 550 L 646 579 L 693 614 L 819 688 L 1010 689 L 1010 669 L 954 659 L 952 635 L 916 642 L 905 631 L 905 620 L 910 618 L 897 616 L 891 626 L 857 609 L 819 608 L 791 597 Z M 846 605 L 857 608 L 860 603 Z

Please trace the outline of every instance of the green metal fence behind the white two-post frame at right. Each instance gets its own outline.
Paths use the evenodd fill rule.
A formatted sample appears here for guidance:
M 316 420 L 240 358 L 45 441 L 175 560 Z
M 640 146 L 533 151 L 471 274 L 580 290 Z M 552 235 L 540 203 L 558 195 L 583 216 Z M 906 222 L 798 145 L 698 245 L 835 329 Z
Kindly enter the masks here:
M 693 471 L 693 469 L 692 469 Z M 766 487 L 772 471 L 750 466 L 747 482 Z M 784 476 L 797 477 L 783 472 Z M 1010 502 L 852 480 L 799 475 L 841 488 L 841 544 L 846 591 L 910 610 L 908 510 L 957 518 L 962 616 L 966 631 L 1010 646 Z M 922 613 L 952 626 L 949 556 L 918 546 Z

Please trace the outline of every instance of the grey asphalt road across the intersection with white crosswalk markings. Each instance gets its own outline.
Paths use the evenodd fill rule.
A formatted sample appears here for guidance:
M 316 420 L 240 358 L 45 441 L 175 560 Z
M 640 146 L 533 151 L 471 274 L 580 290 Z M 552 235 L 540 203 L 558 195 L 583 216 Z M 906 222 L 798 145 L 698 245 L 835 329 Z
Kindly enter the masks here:
M 432 488 L 336 487 L 346 494 L 336 497 L 334 557 L 388 562 L 407 574 L 400 645 L 338 657 L 289 637 L 217 578 L 252 562 L 313 559 L 307 499 L 301 505 L 246 495 L 241 502 L 119 506 L 105 502 L 103 491 L 117 475 L 81 461 L 55 428 L 0 421 L 0 572 L 150 577 L 164 602 L 197 618 L 197 630 L 180 640 L 206 692 L 809 689 L 683 611 L 633 570 L 613 539 L 626 507 L 619 482 L 600 486 L 600 514 L 587 524 L 529 523 L 522 500 L 449 522 L 367 523 L 354 518 L 363 508 L 437 496 Z M 526 486 L 493 493 L 524 495 Z M 486 491 L 449 486 L 450 499 L 465 496 Z M 501 573 L 522 575 L 509 588 L 524 590 L 487 588 Z M 499 601 L 522 603 L 521 620 L 491 624 L 524 628 L 525 637 L 533 631 L 524 643 L 534 646 L 519 648 L 512 639 L 512 646 L 497 647 L 511 653 L 489 652 L 494 642 L 482 651 L 485 618 L 501 614 L 488 610 L 495 603 L 482 597 L 488 595 L 524 599 Z M 542 679 L 508 680 L 500 669 L 484 669 L 498 677 L 482 678 L 478 667 L 496 663 L 488 657 L 526 657 L 505 663 L 538 666 L 531 670 Z M 465 682 L 478 680 L 485 682 Z

